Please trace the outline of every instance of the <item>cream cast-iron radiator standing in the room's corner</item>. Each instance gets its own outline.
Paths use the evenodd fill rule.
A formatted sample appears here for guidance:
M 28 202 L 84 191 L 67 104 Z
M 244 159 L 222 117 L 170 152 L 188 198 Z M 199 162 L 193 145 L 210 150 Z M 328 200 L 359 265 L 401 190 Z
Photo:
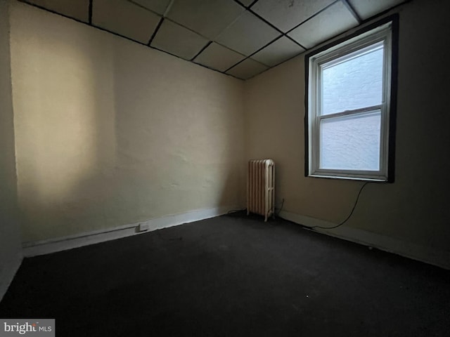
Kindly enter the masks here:
M 272 159 L 248 162 L 247 215 L 256 213 L 275 217 L 275 164 Z

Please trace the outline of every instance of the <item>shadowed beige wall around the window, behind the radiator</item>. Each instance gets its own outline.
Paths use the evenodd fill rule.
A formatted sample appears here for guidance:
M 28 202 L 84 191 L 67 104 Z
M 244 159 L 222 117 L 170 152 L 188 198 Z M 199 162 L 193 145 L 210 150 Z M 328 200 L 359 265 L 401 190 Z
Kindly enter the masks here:
M 430 260 L 425 251 L 450 256 L 448 10 L 444 0 L 416 0 L 397 10 L 396 181 L 367 185 L 346 224 L 404 242 L 403 250 L 413 246 L 413 253 L 398 252 L 424 260 Z M 304 177 L 303 56 L 245 82 L 245 100 L 247 155 L 276 161 L 278 204 L 284 198 L 290 213 L 331 223 L 345 219 L 362 183 Z

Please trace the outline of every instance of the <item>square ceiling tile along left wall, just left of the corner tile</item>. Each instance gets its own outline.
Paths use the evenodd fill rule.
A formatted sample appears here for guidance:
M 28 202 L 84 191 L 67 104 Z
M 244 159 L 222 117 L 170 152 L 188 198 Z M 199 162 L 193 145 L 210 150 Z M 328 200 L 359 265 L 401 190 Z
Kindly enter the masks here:
M 229 48 L 213 42 L 195 58 L 194 62 L 219 70 L 219 72 L 224 72 L 229 67 L 236 65 L 240 60 L 243 60 L 243 58 L 245 58 L 244 55 L 240 55 L 236 51 L 231 51 Z

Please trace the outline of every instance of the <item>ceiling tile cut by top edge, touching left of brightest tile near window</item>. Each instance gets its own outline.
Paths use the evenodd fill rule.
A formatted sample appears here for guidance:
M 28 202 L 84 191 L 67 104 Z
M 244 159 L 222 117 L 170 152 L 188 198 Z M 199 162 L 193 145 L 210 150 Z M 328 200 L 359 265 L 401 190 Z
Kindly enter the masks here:
M 252 11 L 283 32 L 299 25 L 335 0 L 259 0 Z

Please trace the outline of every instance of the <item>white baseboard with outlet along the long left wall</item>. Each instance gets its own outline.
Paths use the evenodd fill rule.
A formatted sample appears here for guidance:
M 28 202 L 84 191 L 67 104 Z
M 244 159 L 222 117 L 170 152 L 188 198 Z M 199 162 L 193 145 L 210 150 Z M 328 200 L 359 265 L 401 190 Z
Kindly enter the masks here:
M 120 239 L 122 237 L 130 237 L 131 235 L 143 234 L 153 230 L 160 230 L 166 227 L 182 225 L 184 223 L 192 223 L 193 221 L 204 220 L 221 216 L 232 209 L 239 209 L 239 206 L 221 206 L 214 209 L 200 209 L 181 214 L 174 214 L 162 218 L 155 218 L 139 223 L 131 223 L 119 227 L 108 228 L 105 230 L 96 230 L 93 232 L 84 232 L 80 234 L 70 235 L 67 237 L 58 237 L 56 239 L 48 239 L 37 242 L 23 243 L 23 255 L 25 257 L 39 256 L 56 251 L 65 251 L 89 244 L 98 244 L 110 240 Z M 140 232 L 139 226 L 148 228 Z

